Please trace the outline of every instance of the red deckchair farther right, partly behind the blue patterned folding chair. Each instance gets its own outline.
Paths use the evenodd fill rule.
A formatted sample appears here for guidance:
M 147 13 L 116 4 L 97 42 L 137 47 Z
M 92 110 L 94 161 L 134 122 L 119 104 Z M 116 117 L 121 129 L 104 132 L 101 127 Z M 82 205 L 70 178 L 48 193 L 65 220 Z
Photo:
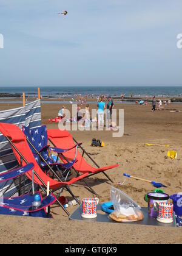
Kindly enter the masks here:
M 72 148 L 75 146 L 75 142 L 72 137 L 72 135 L 67 131 L 67 130 L 48 130 L 48 137 L 50 142 L 53 144 L 53 146 L 66 149 L 66 148 Z M 83 150 L 83 155 L 84 153 L 87 154 L 87 152 L 79 146 Z M 92 176 L 94 174 L 98 174 L 99 172 L 103 172 L 103 174 L 109 179 L 111 182 L 112 180 L 107 176 L 107 174 L 104 171 L 107 171 L 108 169 L 115 168 L 119 165 L 112 165 L 112 166 L 105 166 L 103 168 L 100 168 L 96 162 L 90 157 L 90 155 L 87 154 L 87 156 L 92 160 L 92 162 L 98 167 L 98 168 L 93 168 L 89 163 L 86 162 L 86 160 L 83 158 L 83 155 L 80 154 L 80 152 L 77 152 L 76 160 L 77 162 L 73 165 L 76 171 L 86 173 L 89 172 L 89 176 Z M 60 155 L 61 157 L 61 155 Z M 67 160 L 73 160 L 75 157 L 75 149 L 72 149 L 70 151 L 65 152 L 62 154 L 61 160 L 62 162 L 66 163 Z

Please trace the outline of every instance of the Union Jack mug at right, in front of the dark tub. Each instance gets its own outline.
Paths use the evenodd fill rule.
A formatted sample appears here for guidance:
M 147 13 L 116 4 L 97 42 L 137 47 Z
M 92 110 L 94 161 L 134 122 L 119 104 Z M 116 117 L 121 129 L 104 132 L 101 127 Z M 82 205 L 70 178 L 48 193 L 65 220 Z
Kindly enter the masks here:
M 156 203 L 157 208 L 157 221 L 163 223 L 173 222 L 174 205 L 170 202 L 160 202 Z

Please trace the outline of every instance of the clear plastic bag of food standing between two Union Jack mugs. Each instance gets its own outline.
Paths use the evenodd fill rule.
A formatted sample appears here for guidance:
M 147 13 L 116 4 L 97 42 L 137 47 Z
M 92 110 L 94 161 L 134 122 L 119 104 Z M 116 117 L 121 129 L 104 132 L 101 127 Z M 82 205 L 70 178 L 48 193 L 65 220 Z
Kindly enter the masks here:
M 118 188 L 111 187 L 111 201 L 113 203 L 114 212 L 109 216 L 118 222 L 140 221 L 144 218 L 140 205 L 136 204 L 123 191 Z

